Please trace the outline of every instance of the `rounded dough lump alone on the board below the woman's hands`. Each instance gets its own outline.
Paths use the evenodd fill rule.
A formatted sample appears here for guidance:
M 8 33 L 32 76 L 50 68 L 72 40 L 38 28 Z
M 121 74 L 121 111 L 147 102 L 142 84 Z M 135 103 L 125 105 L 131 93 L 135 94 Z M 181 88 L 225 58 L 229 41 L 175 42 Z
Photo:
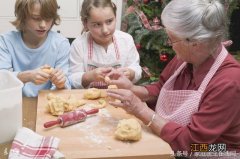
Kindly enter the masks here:
M 122 119 L 117 125 L 115 138 L 122 141 L 138 141 L 142 137 L 142 127 L 134 119 Z

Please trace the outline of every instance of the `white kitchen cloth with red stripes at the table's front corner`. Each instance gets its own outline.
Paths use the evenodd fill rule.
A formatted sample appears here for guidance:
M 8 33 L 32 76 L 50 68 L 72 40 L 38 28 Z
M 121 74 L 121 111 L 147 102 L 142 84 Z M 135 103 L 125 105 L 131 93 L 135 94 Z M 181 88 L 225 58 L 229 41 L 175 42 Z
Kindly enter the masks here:
M 21 128 L 13 140 L 9 159 L 51 159 L 64 157 L 57 151 L 59 139 L 44 137 L 28 128 Z

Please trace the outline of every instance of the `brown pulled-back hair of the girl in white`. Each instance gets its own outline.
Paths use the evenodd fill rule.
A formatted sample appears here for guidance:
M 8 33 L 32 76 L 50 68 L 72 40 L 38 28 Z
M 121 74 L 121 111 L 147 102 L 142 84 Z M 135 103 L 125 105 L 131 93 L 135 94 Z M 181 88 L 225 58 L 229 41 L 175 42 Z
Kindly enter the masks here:
M 105 8 L 110 7 L 113 10 L 114 15 L 116 16 L 117 7 L 111 0 L 84 0 L 82 3 L 81 9 L 81 21 L 83 24 L 87 22 L 89 18 L 89 12 L 92 8 Z M 83 29 L 83 32 L 87 31 L 86 28 Z

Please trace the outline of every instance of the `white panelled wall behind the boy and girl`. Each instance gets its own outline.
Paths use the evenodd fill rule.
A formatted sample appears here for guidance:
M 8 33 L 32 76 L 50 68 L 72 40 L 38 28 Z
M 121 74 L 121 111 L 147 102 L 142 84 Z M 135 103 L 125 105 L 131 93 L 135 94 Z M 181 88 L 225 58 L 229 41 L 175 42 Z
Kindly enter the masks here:
M 80 8 L 83 0 L 57 0 L 61 24 L 53 30 L 62 33 L 67 38 L 75 38 L 82 31 Z M 121 26 L 122 0 L 113 0 L 117 5 L 117 29 Z M 16 30 L 10 23 L 14 17 L 15 0 L 0 0 L 0 33 Z

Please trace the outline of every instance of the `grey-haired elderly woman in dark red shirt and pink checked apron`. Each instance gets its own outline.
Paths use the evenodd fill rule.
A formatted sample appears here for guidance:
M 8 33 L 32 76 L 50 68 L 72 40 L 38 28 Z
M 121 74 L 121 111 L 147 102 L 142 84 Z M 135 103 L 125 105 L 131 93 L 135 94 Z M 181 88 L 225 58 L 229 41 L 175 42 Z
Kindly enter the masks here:
M 162 22 L 176 57 L 157 83 L 136 86 L 119 73 L 108 95 L 168 142 L 174 151 L 193 144 L 223 143 L 240 150 L 240 64 L 222 45 L 226 34 L 223 5 L 211 0 L 172 0 Z M 155 110 L 144 106 L 155 101 Z

